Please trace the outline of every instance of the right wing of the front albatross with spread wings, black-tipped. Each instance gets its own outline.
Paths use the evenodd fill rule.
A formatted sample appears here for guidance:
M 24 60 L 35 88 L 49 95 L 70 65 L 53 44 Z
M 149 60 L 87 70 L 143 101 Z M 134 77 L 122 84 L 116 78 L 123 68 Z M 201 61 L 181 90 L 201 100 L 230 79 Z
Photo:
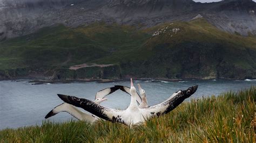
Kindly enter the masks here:
M 180 92 L 177 92 L 178 94 L 174 95 L 169 100 L 141 110 L 147 117 L 160 116 L 169 113 L 170 111 L 175 109 L 179 104 L 181 104 L 186 98 L 193 95 L 194 92 L 197 91 L 197 88 L 198 85 L 190 87 L 187 90 L 181 90 Z

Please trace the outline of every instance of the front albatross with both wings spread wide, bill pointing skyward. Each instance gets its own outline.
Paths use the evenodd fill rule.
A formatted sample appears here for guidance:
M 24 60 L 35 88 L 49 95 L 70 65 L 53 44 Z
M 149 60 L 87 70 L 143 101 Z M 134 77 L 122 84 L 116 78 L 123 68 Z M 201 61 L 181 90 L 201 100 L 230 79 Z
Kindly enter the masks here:
M 153 117 L 158 117 L 160 115 L 169 113 L 179 104 L 181 104 L 186 98 L 194 94 L 194 92 L 197 91 L 197 88 L 198 85 L 190 87 L 187 90 L 180 90 L 180 92 L 177 92 L 175 96 L 173 96 L 171 99 L 168 99 L 167 101 L 154 106 L 150 106 L 149 108 L 140 109 L 136 103 L 136 88 L 133 86 L 131 78 L 131 103 L 126 110 L 107 108 L 88 99 L 78 98 L 75 96 L 61 94 L 58 94 L 58 96 L 64 102 L 82 108 L 92 113 L 93 115 L 96 115 L 97 117 L 112 121 L 113 123 L 122 123 L 131 126 L 143 123 Z

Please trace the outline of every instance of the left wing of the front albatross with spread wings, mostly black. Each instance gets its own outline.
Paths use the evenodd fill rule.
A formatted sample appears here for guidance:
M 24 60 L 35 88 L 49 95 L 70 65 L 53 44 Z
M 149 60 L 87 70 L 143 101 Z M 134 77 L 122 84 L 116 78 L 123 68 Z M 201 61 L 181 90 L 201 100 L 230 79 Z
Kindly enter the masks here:
M 60 94 L 58 94 L 58 96 L 64 102 L 77 106 L 79 108 L 82 108 L 99 118 L 113 121 L 113 122 L 123 123 L 123 121 L 120 120 L 119 118 L 123 110 L 106 108 L 105 106 L 99 105 L 88 99 L 78 98 L 75 96 L 60 95 Z

